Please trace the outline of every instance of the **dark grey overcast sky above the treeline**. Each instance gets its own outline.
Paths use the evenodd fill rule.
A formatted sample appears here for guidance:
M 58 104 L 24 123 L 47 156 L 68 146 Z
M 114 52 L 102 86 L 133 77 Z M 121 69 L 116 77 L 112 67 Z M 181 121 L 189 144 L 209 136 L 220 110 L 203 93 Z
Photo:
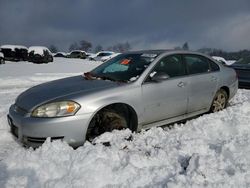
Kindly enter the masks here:
M 250 49 L 250 0 L 0 0 L 0 44 Z

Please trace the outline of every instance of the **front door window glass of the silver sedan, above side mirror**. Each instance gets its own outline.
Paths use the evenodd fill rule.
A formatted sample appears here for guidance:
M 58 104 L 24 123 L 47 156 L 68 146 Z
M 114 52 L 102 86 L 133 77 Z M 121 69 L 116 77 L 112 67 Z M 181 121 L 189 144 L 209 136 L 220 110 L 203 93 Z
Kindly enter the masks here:
M 155 73 L 154 73 L 155 72 Z M 165 73 L 170 78 L 186 74 L 181 55 L 170 55 L 162 58 L 154 67 L 152 73 Z

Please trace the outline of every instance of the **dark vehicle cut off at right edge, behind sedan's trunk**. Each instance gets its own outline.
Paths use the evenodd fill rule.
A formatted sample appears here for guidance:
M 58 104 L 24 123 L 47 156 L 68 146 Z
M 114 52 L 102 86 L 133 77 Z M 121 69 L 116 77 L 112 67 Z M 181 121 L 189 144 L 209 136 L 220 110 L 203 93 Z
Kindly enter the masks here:
M 235 69 L 239 79 L 239 87 L 250 89 L 250 56 L 241 58 L 229 67 Z

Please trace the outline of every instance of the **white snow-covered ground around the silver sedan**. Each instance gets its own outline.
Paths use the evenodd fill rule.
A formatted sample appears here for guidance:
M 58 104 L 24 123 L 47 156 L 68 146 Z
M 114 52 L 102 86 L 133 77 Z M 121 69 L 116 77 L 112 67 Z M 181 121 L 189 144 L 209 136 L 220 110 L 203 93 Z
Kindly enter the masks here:
M 113 131 L 76 150 L 61 141 L 47 140 L 35 151 L 15 142 L 6 115 L 19 93 L 98 64 L 55 58 L 0 65 L 0 187 L 250 187 L 248 90 L 239 90 L 224 111 L 171 129 Z

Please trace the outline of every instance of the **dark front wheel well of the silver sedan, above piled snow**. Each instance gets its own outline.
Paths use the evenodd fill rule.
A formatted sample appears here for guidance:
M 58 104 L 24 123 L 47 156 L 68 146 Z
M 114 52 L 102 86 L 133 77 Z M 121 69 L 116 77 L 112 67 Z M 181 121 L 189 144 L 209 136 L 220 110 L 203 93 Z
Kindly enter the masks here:
M 92 141 L 104 132 L 129 128 L 126 116 L 112 109 L 104 109 L 92 119 L 86 135 L 86 140 Z

